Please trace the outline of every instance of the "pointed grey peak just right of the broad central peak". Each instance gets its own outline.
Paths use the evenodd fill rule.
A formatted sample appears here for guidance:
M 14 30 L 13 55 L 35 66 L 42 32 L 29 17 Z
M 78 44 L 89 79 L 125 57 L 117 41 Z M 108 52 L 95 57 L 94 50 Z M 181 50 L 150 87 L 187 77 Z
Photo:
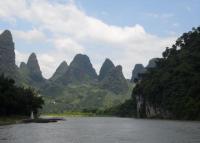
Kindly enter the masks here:
M 98 77 L 99 81 L 102 81 L 109 73 L 109 71 L 114 67 L 115 65 L 113 64 L 113 62 L 110 59 L 106 59 L 99 72 L 99 77 Z

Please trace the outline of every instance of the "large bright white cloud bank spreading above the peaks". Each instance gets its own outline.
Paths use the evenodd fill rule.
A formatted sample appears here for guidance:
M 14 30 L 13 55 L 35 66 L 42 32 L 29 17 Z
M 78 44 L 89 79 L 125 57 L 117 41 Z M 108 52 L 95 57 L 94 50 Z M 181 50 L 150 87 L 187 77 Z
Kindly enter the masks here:
M 149 16 L 168 19 L 173 14 L 152 13 Z M 116 65 L 121 64 L 125 76 L 130 78 L 136 63 L 147 64 L 150 58 L 161 56 L 165 47 L 176 39 L 147 33 L 140 24 L 109 25 L 88 16 L 74 1 L 65 4 L 48 0 L 1 1 L 0 18 L 32 23 L 37 29 L 14 29 L 14 36 L 34 43 L 46 39 L 51 44 L 51 50 L 37 54 L 45 77 L 50 77 L 61 61 L 69 63 L 75 54 L 85 53 L 97 71 L 108 57 Z M 17 60 L 23 59 L 23 54 L 16 55 Z

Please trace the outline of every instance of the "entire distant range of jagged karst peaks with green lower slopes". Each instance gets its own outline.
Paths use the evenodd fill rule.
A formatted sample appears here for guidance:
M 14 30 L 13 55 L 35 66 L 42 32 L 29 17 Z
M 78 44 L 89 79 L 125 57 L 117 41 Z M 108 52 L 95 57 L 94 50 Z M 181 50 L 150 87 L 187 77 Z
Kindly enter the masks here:
M 147 67 L 155 66 L 155 60 Z M 141 64 L 133 70 L 131 82 L 145 72 Z M 77 54 L 68 65 L 63 61 L 50 79 L 42 76 L 35 53 L 27 63 L 15 65 L 14 42 L 10 31 L 0 35 L 0 73 L 14 78 L 19 85 L 33 87 L 44 96 L 46 112 L 106 108 L 130 98 L 132 83 L 125 79 L 122 66 L 115 66 L 110 59 L 103 63 L 99 75 L 87 55 Z

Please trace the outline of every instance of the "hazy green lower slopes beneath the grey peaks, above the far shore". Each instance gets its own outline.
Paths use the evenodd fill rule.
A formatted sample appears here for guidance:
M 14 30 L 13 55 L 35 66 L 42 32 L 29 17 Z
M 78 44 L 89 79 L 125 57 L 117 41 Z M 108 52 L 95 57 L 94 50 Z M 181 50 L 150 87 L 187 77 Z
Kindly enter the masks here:
M 131 98 L 132 85 L 122 94 L 115 94 L 102 89 L 98 84 L 70 84 L 62 86 L 58 84 L 52 89 L 43 91 L 45 105 L 43 113 L 64 113 L 66 111 L 83 111 L 93 109 L 106 109 L 122 104 Z

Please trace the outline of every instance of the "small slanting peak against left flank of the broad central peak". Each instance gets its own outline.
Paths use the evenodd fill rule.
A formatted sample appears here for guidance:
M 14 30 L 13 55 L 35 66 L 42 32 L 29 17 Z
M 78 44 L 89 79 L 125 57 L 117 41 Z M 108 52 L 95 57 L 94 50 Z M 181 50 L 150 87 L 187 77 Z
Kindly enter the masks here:
M 66 61 L 63 61 L 58 68 L 56 69 L 53 76 L 50 78 L 50 81 L 55 81 L 58 78 L 62 77 L 68 70 L 68 64 Z

